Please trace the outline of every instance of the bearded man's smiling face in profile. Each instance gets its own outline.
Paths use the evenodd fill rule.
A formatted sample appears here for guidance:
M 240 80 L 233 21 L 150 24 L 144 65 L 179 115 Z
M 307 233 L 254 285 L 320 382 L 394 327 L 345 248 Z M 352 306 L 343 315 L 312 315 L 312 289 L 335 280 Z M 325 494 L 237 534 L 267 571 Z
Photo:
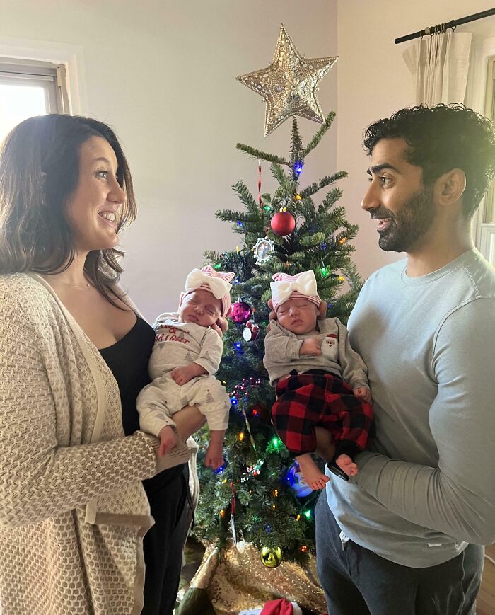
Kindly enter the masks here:
M 404 139 L 380 139 L 371 154 L 370 186 L 361 207 L 378 220 L 382 250 L 414 253 L 427 241 L 436 207 L 421 167 L 407 162 Z

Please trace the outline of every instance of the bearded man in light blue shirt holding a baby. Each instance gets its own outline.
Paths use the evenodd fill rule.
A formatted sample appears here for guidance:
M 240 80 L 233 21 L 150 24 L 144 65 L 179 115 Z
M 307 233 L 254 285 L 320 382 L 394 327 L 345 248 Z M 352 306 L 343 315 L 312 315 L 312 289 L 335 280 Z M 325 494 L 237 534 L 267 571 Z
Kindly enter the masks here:
M 368 127 L 362 207 L 407 258 L 375 272 L 349 319 L 376 437 L 316 510 L 332 615 L 467 615 L 495 541 L 495 270 L 470 222 L 491 178 L 490 122 L 463 105 Z

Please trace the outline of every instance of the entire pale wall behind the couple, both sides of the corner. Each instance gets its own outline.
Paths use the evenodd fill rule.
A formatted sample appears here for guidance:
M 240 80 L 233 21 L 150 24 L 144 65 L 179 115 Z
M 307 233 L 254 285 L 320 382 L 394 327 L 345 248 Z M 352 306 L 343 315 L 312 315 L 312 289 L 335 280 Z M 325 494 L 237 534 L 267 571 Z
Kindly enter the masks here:
M 144 314 L 174 309 L 189 270 L 206 249 L 240 243 L 216 209 L 238 207 L 231 185 L 257 190 L 245 142 L 289 149 L 290 120 L 262 137 L 262 98 L 235 76 L 272 61 L 281 21 L 307 57 L 339 54 L 323 79 L 325 113 L 336 126 L 308 157 L 304 183 L 336 170 L 349 218 L 360 225 L 356 263 L 368 276 L 399 258 L 378 248 L 375 223 L 359 205 L 366 189 L 363 129 L 412 103 L 412 79 L 393 40 L 426 25 L 491 8 L 491 0 L 2 0 L 0 52 L 14 38 L 53 59 L 74 51 L 81 77 L 78 110 L 110 122 L 131 163 L 139 217 L 123 239 L 124 284 Z M 309 7 L 309 8 L 308 8 Z M 460 27 L 495 35 L 495 18 Z M 40 45 L 37 41 L 44 41 Z M 338 44 L 337 44 L 338 43 Z M 58 47 L 57 47 L 58 45 Z M 338 92 L 337 92 L 338 85 Z M 318 125 L 300 122 L 303 139 Z M 338 132 L 338 141 L 337 141 Z M 264 190 L 270 190 L 264 166 Z

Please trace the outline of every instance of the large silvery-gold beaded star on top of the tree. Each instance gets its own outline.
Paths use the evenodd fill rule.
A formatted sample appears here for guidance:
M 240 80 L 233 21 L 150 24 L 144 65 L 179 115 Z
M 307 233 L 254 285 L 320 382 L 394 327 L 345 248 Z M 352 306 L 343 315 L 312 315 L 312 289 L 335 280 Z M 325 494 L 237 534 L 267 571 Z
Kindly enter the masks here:
M 263 96 L 267 103 L 264 136 L 278 128 L 291 115 L 315 122 L 325 121 L 316 98 L 318 84 L 337 62 L 338 57 L 306 59 L 296 50 L 284 24 L 280 26 L 272 64 L 237 79 Z

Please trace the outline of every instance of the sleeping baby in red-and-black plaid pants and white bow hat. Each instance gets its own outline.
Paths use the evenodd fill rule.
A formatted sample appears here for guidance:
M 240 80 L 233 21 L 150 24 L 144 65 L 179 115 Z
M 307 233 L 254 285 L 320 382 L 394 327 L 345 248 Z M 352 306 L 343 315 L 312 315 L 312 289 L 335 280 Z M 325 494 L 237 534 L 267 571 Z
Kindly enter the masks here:
M 264 340 L 263 360 L 276 386 L 272 420 L 296 454 L 305 481 L 318 490 L 328 477 L 310 455 L 317 449 L 344 480 L 358 471 L 354 455 L 366 447 L 373 430 L 367 369 L 338 318 L 318 320 L 326 306 L 313 271 L 273 277 L 276 320 Z

